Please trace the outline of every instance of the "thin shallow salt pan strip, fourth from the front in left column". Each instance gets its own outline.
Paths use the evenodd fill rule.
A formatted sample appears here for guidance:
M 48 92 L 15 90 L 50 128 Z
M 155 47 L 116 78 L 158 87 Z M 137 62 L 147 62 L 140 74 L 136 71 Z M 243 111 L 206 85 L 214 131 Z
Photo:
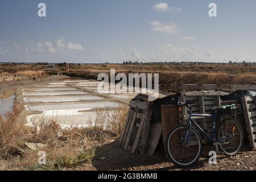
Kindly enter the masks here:
M 73 92 L 23 92 L 23 96 L 63 96 L 72 94 L 87 94 L 88 92 L 73 91 Z

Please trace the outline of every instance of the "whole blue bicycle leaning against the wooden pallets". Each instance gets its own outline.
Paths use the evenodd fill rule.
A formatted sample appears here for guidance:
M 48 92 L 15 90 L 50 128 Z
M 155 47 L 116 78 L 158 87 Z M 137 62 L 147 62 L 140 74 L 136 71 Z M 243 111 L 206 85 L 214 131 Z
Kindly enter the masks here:
M 217 153 L 220 153 L 218 151 L 219 146 L 225 155 L 237 155 L 243 144 L 242 127 L 234 119 L 235 115 L 238 113 L 232 114 L 232 118 L 223 119 L 218 129 L 216 129 L 218 113 L 226 109 L 231 110 L 230 106 L 227 106 L 225 109 L 224 107 L 213 107 L 211 110 L 214 111 L 214 114 L 192 114 L 191 104 L 195 103 L 196 101 L 186 101 L 185 103 L 181 101 L 178 102 L 180 108 L 181 106 L 186 106 L 189 108 L 189 111 L 187 124 L 174 127 L 167 135 L 165 143 L 166 154 L 172 162 L 180 167 L 189 167 L 199 160 L 202 153 L 203 142 L 201 135 L 192 125 L 195 125 L 196 128 L 203 133 L 209 145 L 216 146 Z M 212 134 L 207 134 L 207 131 L 203 130 L 192 117 L 211 117 Z

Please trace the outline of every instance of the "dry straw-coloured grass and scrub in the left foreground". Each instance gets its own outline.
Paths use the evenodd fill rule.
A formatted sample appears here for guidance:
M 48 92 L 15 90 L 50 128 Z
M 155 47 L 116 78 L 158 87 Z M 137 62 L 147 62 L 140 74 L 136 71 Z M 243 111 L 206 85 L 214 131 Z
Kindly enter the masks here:
M 90 163 L 96 147 L 119 137 L 127 111 L 98 111 L 90 126 L 63 129 L 55 121 L 26 126 L 20 110 L 15 103 L 13 111 L 0 118 L 0 170 L 61 170 Z M 47 147 L 33 151 L 26 142 Z M 39 150 L 46 152 L 46 165 L 38 164 Z

